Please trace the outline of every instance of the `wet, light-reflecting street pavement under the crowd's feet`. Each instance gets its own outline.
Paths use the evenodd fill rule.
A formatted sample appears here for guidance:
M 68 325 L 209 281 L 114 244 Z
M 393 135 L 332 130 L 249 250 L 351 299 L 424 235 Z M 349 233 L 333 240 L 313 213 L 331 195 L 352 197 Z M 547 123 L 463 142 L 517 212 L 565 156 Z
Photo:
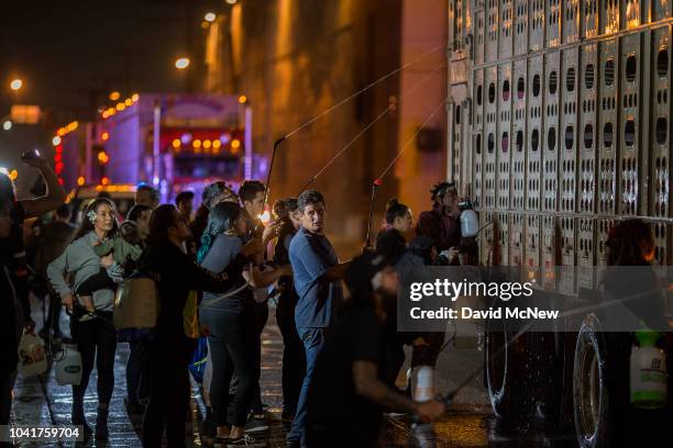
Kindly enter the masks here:
M 41 309 L 35 304 L 33 311 Z M 268 447 L 285 446 L 285 427 L 280 421 L 282 389 L 280 389 L 280 359 L 283 343 L 275 317 L 269 313 L 268 325 L 263 334 L 263 365 L 262 365 L 262 395 L 263 402 L 268 404 L 268 433 L 257 436 L 265 440 Z M 40 328 L 41 315 L 34 313 L 34 320 Z M 62 328 L 67 328 L 67 317 L 64 316 Z M 479 340 L 474 337 L 459 336 L 440 355 L 438 360 L 437 391 L 442 393 L 452 390 L 462 379 L 467 378 L 474 369 L 483 366 L 483 351 L 478 350 Z M 129 356 L 128 346 L 120 344 L 115 358 L 115 387 L 110 404 L 109 429 L 110 439 L 104 444 L 77 444 L 77 446 L 106 446 L 106 447 L 140 447 L 141 422 L 137 417 L 131 418 L 125 411 L 123 399 L 125 396 L 124 366 Z M 407 366 L 401 369 L 398 384 L 405 381 L 404 374 Z M 96 421 L 96 370 L 89 382 L 85 399 L 85 412 L 89 425 Z M 71 393 L 70 387 L 58 385 L 54 378 L 54 370 L 40 378 L 18 378 L 14 389 L 14 404 L 12 419 L 16 425 L 58 426 L 66 425 L 70 418 Z M 203 414 L 205 405 L 200 393 L 195 387 L 191 400 L 192 421 L 198 422 Z M 576 447 L 577 444 L 566 430 L 565 434 L 550 434 L 549 430 L 528 428 L 505 428 L 493 417 L 488 396 L 484 388 L 484 380 L 479 376 L 461 390 L 450 412 L 434 424 L 437 447 Z M 212 440 L 203 437 L 199 425 L 189 424 L 188 446 L 212 446 Z M 385 419 L 382 446 L 407 447 L 412 434 L 410 423 L 406 417 L 387 416 Z M 75 446 L 75 443 L 62 441 L 58 444 L 23 444 L 22 446 Z

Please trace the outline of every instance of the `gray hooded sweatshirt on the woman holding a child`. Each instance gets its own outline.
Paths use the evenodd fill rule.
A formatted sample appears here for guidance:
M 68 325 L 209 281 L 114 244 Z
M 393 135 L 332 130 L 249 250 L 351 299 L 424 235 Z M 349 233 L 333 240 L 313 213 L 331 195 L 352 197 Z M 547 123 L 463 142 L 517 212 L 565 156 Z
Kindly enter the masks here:
M 100 257 L 93 253 L 93 246 L 99 243 L 95 232 L 89 232 L 81 238 L 70 243 L 65 251 L 47 267 L 47 277 L 58 295 L 73 294 L 73 291 L 89 277 L 100 271 Z M 121 282 L 122 269 L 113 264 L 108 268 L 108 275 L 115 282 Z M 74 285 L 70 287 L 65 277 L 75 273 Z M 93 292 L 93 307 L 99 311 L 112 311 L 114 292 L 99 290 Z M 86 317 L 86 316 L 85 316 Z

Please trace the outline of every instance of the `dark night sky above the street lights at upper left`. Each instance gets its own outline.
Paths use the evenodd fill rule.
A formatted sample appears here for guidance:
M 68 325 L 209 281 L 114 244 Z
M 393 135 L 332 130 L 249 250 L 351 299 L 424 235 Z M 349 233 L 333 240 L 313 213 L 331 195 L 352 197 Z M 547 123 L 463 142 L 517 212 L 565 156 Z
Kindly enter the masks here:
M 175 58 L 202 51 L 201 19 L 223 4 L 223 0 L 3 1 L 0 112 L 7 114 L 20 100 L 70 120 L 102 105 L 112 90 L 123 96 L 179 91 L 186 80 L 174 68 Z M 19 99 L 8 87 L 14 77 L 25 81 Z

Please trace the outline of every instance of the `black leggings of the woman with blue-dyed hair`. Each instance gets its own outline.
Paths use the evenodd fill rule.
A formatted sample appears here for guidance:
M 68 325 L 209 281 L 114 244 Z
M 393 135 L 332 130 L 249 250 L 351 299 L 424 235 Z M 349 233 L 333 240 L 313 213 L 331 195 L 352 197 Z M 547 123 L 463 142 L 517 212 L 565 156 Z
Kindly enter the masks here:
M 232 424 L 243 426 L 252 407 L 257 383 L 254 316 L 219 309 L 201 309 L 201 321 L 210 328 L 208 348 L 212 361 L 210 403 L 217 426 L 227 425 L 229 383 L 236 372 L 239 385 L 233 402 Z

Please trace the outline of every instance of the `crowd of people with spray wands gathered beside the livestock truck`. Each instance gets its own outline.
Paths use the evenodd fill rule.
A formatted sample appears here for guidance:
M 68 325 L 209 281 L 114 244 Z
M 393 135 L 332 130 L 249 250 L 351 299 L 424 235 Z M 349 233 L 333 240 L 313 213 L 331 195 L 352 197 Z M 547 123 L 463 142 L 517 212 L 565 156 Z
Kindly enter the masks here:
M 384 408 L 427 422 L 443 414 L 442 403 L 416 402 L 395 387 L 404 345 L 413 347 L 412 367 L 434 365 L 444 337 L 398 334 L 396 293 L 400 267 L 476 262 L 475 240 L 461 235 L 454 183 L 432 189 L 433 206 L 416 226 L 409 206 L 390 200 L 375 247 L 344 262 L 324 233 L 328 204 L 319 191 L 276 201 L 265 225 L 260 181 L 246 180 L 238 192 L 224 181 L 209 184 L 194 216 L 194 193 L 159 204 L 158 192 L 143 184 L 123 221 L 101 195 L 86 204 L 75 227 L 47 164 L 25 161 L 41 170 L 47 193 L 18 201 L 11 180 L 0 175 L 0 425 L 9 421 L 19 338 L 34 328 L 29 290 L 49 298 L 43 337 L 63 336 L 60 305 L 70 315 L 69 334 L 82 360 L 71 424 L 86 437 L 109 437 L 114 358 L 123 340 L 130 346 L 125 404 L 129 413 L 143 414 L 144 446 L 159 447 L 164 437 L 169 447 L 185 445 L 188 371 L 203 345 L 206 368 L 195 376 L 208 406 L 203 434 L 228 447 L 264 446 L 254 435 L 268 428 L 260 380 L 269 300 L 284 343 L 288 447 L 376 446 Z M 44 214 L 51 223 L 33 225 L 24 238 L 24 221 Z M 156 285 L 156 325 L 122 337 L 113 323 L 115 290 L 139 275 Z M 195 294 L 196 335 L 185 324 Z M 93 368 L 98 410 L 90 428 L 84 399 Z

